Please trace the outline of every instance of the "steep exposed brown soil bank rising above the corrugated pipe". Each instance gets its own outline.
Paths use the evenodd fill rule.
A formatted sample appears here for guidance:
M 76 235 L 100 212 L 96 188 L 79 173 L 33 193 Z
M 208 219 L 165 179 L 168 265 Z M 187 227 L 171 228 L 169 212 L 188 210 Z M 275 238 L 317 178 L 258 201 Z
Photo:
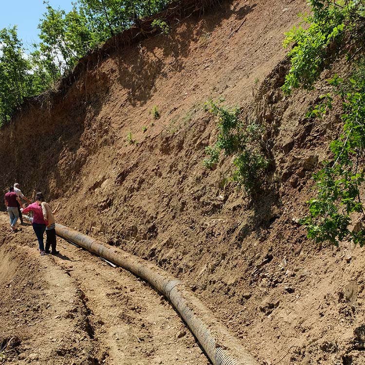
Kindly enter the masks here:
M 187 282 L 259 361 L 363 365 L 364 249 L 316 247 L 296 223 L 339 128 L 336 110 L 304 118 L 316 95 L 280 91 L 283 32 L 307 10 L 228 1 L 115 50 L 1 130 L 0 182 L 42 190 L 59 222 Z M 227 180 L 230 159 L 202 165 L 216 138 L 203 105 L 219 96 L 267 126 L 275 168 L 255 199 Z

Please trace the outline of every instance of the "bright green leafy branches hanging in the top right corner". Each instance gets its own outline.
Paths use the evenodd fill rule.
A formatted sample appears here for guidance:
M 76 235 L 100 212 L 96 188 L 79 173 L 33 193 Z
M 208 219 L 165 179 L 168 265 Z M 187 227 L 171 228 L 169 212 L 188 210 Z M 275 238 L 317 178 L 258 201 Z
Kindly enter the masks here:
M 284 47 L 293 45 L 288 56 L 291 69 L 282 87 L 285 93 L 303 87 L 312 89 L 324 69 L 341 55 L 359 55 L 365 40 L 365 2 L 359 0 L 310 0 L 312 14 L 302 16 L 303 28 L 286 33 Z

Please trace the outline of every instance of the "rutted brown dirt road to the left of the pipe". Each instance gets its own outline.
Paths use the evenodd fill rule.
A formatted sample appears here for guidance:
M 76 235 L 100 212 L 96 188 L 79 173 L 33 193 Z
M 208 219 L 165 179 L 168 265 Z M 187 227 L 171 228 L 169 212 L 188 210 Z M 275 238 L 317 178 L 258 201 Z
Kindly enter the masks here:
M 39 256 L 30 225 L 7 228 L 1 213 L 0 363 L 210 364 L 149 284 L 59 237 Z

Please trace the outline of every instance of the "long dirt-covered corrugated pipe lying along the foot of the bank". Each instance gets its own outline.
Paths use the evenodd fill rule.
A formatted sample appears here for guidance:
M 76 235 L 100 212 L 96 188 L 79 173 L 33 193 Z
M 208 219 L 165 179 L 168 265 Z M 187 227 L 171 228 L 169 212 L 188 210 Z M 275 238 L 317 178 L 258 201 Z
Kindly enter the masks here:
M 145 279 L 163 293 L 183 317 L 214 365 L 257 365 L 242 344 L 215 319 L 212 311 L 174 276 L 151 262 L 121 249 L 106 247 L 96 239 L 62 224 L 56 223 L 56 234 Z

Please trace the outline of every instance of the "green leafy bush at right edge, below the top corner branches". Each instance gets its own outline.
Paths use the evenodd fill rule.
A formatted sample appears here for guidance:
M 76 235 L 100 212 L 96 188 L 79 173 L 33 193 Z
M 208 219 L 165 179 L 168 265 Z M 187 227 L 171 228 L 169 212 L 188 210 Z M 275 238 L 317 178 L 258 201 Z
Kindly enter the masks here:
M 308 237 L 317 242 L 329 240 L 337 245 L 348 238 L 365 243 L 364 228 L 350 230 L 351 214 L 364 216 L 360 188 L 364 183 L 365 152 L 365 64 L 347 82 L 335 77 L 330 80 L 343 100 L 343 134 L 330 144 L 333 160 L 325 161 L 324 168 L 313 178 L 318 196 L 310 199 L 310 216 L 302 220 Z

